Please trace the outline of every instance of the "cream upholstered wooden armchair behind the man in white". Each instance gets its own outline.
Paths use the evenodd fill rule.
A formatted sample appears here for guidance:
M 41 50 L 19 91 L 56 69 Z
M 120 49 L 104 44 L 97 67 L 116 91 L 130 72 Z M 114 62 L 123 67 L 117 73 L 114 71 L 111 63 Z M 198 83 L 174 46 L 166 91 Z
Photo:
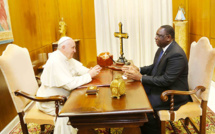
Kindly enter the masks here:
M 28 50 L 14 44 L 9 44 L 2 56 L 0 56 L 0 68 L 19 115 L 23 133 L 28 133 L 27 123 L 37 123 L 41 126 L 42 124 L 54 125 L 59 111 L 59 103 L 64 104 L 66 97 L 35 96 L 38 84 Z M 56 117 L 47 115 L 38 110 L 35 101 L 53 101 L 56 106 Z M 44 127 L 41 129 L 44 129 Z

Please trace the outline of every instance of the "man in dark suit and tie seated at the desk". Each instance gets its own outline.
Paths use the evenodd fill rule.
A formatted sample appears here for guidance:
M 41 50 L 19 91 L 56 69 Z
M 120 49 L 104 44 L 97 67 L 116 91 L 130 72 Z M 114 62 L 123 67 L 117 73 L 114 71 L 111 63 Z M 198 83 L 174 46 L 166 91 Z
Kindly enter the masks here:
M 175 42 L 174 38 L 175 32 L 171 26 L 161 26 L 155 37 L 159 48 L 153 64 L 140 68 L 135 65 L 122 68 L 127 78 L 142 82 L 155 113 L 157 110 L 170 109 L 170 102 L 162 102 L 160 98 L 163 91 L 188 90 L 188 61 L 183 49 Z M 190 96 L 175 95 L 175 110 L 188 101 L 191 101 Z M 149 122 L 143 126 L 144 132 L 142 131 L 142 133 L 159 133 L 156 117 L 148 114 L 148 118 Z

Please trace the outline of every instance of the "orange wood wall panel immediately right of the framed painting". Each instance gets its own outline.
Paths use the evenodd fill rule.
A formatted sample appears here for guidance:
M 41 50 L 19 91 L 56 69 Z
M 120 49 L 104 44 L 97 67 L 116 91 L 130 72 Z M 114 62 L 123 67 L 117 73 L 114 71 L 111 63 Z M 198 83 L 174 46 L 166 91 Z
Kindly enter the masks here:
M 14 4 L 16 3 L 16 4 Z M 40 47 L 40 21 L 38 13 L 38 2 L 9 1 L 11 14 L 11 25 L 14 35 L 14 43 L 28 48 L 29 51 Z

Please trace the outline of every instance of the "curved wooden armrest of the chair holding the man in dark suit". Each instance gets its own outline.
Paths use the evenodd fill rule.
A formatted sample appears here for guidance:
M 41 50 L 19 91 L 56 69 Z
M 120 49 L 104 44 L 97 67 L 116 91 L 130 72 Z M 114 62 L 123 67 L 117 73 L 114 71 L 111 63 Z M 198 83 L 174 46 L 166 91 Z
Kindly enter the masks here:
M 162 101 L 168 101 L 168 95 L 191 95 L 195 94 L 197 91 L 201 90 L 202 92 L 205 91 L 204 86 L 197 86 L 193 91 L 177 91 L 177 90 L 166 90 L 161 94 Z

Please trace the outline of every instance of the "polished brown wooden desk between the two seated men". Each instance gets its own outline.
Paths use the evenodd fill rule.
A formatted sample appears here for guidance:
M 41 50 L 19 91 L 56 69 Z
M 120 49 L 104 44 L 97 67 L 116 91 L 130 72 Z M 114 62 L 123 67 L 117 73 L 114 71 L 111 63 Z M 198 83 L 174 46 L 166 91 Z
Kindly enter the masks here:
M 122 72 L 103 69 L 87 85 L 110 84 L 117 74 Z M 99 87 L 98 96 L 86 96 L 85 92 L 86 88 L 73 90 L 59 114 L 59 117 L 69 117 L 71 125 L 79 130 L 111 127 L 139 129 L 148 121 L 146 113 L 153 112 L 141 82 L 126 83 L 126 95 L 120 99 L 111 98 L 110 87 Z

